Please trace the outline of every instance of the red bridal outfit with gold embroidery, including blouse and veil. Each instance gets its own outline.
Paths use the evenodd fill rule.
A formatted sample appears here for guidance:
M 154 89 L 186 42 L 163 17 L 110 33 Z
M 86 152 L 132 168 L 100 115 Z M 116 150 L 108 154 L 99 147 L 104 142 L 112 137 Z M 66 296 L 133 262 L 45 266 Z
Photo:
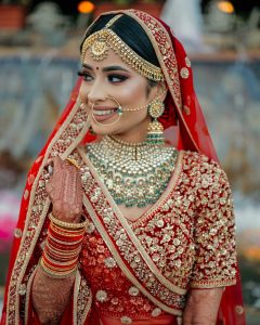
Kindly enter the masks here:
M 231 190 L 193 88 L 191 62 L 164 22 L 135 10 L 120 13 L 145 30 L 168 84 L 160 121 L 178 150 L 170 182 L 135 222 L 123 218 L 86 155 L 95 138 L 80 107 L 79 79 L 28 174 L 1 324 L 39 323 L 30 288 L 49 226 L 43 166 L 60 155 L 80 166 L 89 220 L 62 324 L 179 324 L 190 288 L 226 287 L 217 324 L 244 325 Z

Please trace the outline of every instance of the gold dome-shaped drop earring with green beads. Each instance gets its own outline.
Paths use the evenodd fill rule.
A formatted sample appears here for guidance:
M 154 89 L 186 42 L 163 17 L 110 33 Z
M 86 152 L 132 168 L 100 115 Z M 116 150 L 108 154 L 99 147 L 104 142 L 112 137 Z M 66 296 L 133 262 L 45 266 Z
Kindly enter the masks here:
M 148 123 L 146 140 L 152 145 L 165 144 L 164 127 L 157 120 L 165 112 L 165 104 L 161 100 L 155 99 L 148 105 L 148 115 L 152 121 Z

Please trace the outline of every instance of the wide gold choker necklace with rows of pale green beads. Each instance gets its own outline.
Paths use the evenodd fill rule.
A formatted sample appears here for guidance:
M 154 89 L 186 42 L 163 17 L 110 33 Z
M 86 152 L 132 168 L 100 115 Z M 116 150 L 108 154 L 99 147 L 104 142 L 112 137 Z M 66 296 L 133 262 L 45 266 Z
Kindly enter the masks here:
M 147 142 L 128 143 L 106 135 L 87 146 L 87 154 L 117 205 L 145 207 L 166 190 L 177 150 Z

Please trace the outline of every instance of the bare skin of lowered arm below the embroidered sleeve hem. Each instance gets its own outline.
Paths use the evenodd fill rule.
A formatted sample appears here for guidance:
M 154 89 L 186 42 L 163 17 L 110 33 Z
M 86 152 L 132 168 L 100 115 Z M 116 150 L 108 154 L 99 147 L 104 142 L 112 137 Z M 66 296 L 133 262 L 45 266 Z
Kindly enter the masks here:
M 183 325 L 214 325 L 223 288 L 192 289 L 183 314 Z

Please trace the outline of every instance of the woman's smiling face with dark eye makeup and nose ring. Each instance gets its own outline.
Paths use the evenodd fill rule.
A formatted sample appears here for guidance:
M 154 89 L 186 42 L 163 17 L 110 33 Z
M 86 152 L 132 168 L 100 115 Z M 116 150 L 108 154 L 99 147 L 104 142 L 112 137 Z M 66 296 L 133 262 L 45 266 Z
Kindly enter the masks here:
M 147 106 L 161 93 L 160 84 L 148 86 L 148 80 L 123 63 L 113 50 L 102 61 L 94 61 L 88 50 L 79 75 L 83 76 L 79 96 L 86 103 L 93 131 L 102 135 L 114 134 L 129 142 L 143 141 L 151 121 Z M 122 108 L 120 116 L 119 105 Z M 142 109 L 138 109 L 140 107 Z

